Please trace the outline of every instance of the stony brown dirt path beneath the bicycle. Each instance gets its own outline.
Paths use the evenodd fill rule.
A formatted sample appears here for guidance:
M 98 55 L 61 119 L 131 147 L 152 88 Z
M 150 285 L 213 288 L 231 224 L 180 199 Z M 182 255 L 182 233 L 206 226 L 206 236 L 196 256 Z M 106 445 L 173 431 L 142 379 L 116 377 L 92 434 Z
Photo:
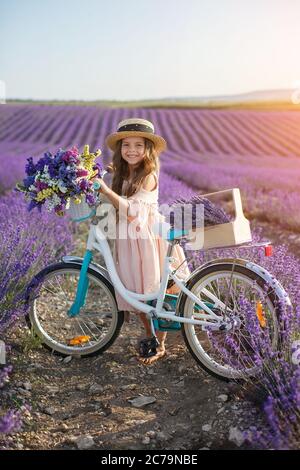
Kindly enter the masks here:
M 136 359 L 136 318 L 103 355 L 70 362 L 45 349 L 25 353 L 24 328 L 14 333 L 5 398 L 24 398 L 32 409 L 22 432 L 0 439 L 2 449 L 239 448 L 238 429 L 249 416 L 257 424 L 258 411 L 238 387 L 203 372 L 178 332 L 169 334 L 167 356 L 146 367 Z M 137 408 L 129 400 L 138 396 L 153 403 Z

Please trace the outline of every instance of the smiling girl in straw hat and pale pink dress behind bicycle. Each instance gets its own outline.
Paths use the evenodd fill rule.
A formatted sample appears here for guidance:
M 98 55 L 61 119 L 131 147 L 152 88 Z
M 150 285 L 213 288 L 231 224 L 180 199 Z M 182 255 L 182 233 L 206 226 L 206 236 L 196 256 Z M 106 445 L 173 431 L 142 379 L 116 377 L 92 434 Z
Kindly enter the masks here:
M 114 249 L 116 269 L 127 289 L 148 294 L 159 288 L 168 248 L 168 242 L 154 235 L 152 230 L 155 222 L 164 220 L 158 211 L 158 156 L 166 149 L 166 142 L 154 133 L 150 121 L 132 118 L 121 121 L 117 132 L 106 138 L 106 144 L 114 152 L 111 165 L 113 180 L 110 189 L 100 179 L 100 192 L 110 200 L 120 215 L 117 217 Z M 172 257 L 176 259 L 173 268 L 185 259 L 179 245 L 174 246 Z M 187 263 L 179 268 L 177 274 L 182 279 L 189 275 Z M 176 290 L 171 288 L 167 292 L 176 293 Z M 137 312 L 118 292 L 116 299 L 119 310 Z M 139 314 L 147 337 L 152 336 L 146 314 Z M 157 332 L 160 343 L 157 353 L 140 358 L 144 364 L 151 364 L 164 356 L 166 335 L 166 332 Z

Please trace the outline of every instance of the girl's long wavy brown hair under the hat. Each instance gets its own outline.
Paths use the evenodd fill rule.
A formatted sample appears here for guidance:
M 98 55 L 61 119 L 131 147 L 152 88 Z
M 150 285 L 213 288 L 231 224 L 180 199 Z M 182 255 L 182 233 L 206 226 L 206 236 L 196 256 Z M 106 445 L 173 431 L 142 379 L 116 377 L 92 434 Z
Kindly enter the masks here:
M 143 160 L 139 163 L 138 167 L 134 169 L 133 178 L 131 184 L 126 189 L 126 194 L 124 196 L 130 197 L 135 192 L 137 192 L 144 178 L 147 175 L 150 175 L 152 172 L 159 173 L 159 161 L 158 154 L 154 148 L 154 144 L 149 139 L 145 140 L 145 156 Z M 123 181 L 128 180 L 129 178 L 129 165 L 122 158 L 121 154 L 122 140 L 119 140 L 116 144 L 116 150 L 112 157 L 112 164 L 110 165 L 113 171 L 113 180 L 112 180 L 112 190 L 122 195 L 122 186 Z

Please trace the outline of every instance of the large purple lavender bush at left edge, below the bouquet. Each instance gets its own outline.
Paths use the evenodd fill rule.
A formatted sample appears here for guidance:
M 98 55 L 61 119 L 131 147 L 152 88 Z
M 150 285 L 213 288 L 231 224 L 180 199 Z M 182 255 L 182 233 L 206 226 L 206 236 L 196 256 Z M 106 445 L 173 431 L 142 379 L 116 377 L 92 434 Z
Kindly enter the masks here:
M 71 248 L 68 227 L 67 219 L 46 211 L 28 217 L 21 194 L 0 199 L 0 258 L 5 259 L 0 272 L 0 336 L 26 312 L 26 286 L 34 273 Z

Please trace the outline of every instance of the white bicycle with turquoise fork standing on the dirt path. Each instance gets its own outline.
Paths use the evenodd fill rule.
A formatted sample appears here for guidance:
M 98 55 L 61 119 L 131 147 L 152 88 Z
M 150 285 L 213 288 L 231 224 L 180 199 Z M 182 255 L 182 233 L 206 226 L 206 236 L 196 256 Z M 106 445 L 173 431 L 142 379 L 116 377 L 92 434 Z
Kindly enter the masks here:
M 43 345 L 66 356 L 103 353 L 116 340 L 124 321 L 124 312 L 117 307 L 117 290 L 149 318 L 153 337 L 143 345 L 145 355 L 155 353 L 157 329 L 181 329 L 193 358 L 211 375 L 226 381 L 257 375 L 253 328 L 255 336 L 268 338 L 274 350 L 280 347 L 280 309 L 291 305 L 282 285 L 261 266 L 241 258 L 214 259 L 182 282 L 170 265 L 174 245 L 187 239 L 188 232 L 170 229 L 165 235 L 169 245 L 158 291 L 132 292 L 118 276 L 100 227 L 106 215 L 102 206 L 100 201 L 97 212 L 88 214 L 91 223 L 84 258 L 64 256 L 39 272 L 28 286 L 27 321 Z M 103 255 L 106 267 L 93 261 L 94 250 Z M 180 288 L 179 294 L 166 294 L 170 280 Z

